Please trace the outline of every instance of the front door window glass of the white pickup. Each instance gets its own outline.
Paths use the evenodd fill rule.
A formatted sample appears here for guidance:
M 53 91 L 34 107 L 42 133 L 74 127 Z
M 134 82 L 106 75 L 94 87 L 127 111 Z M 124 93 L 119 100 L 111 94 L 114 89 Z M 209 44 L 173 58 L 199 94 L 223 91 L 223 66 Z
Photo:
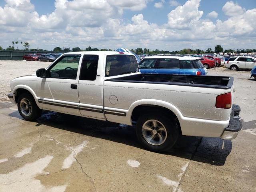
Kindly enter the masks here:
M 48 78 L 76 79 L 80 54 L 65 55 L 48 70 Z

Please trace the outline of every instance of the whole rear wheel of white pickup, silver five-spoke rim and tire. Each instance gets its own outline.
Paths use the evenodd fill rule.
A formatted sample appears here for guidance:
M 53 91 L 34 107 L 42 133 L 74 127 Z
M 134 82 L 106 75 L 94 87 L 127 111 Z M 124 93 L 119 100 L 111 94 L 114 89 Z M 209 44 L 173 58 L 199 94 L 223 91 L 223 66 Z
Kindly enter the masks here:
M 179 130 L 176 121 L 164 114 L 145 114 L 136 124 L 139 142 L 154 152 L 167 151 L 176 143 Z

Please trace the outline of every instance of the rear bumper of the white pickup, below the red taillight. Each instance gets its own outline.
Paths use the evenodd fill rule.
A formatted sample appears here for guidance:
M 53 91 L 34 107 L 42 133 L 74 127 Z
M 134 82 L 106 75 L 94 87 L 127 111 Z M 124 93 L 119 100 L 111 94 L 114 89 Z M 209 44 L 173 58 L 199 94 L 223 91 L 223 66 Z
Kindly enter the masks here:
M 224 130 L 221 139 L 231 140 L 235 139 L 239 131 L 242 128 L 242 122 L 239 117 L 240 107 L 238 105 L 232 105 L 232 112 L 228 127 Z

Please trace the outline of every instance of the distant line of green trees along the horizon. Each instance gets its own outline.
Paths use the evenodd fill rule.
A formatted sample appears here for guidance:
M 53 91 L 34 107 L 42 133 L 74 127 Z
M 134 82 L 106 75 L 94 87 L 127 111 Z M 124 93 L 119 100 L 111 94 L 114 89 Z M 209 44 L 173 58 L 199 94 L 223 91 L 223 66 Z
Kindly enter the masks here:
M 22 49 L 19 49 L 18 48 L 18 44 L 21 44 L 21 46 L 23 47 Z M 15 46 L 14 44 L 16 44 L 16 48 L 15 49 Z M 43 50 L 43 49 L 29 49 L 30 47 L 30 44 L 28 42 L 14 42 L 12 41 L 11 42 L 11 45 L 8 46 L 8 48 L 6 49 L 3 49 L 1 46 L 0 46 L 0 50 L 26 50 L 26 51 L 34 51 L 34 52 L 47 52 L 49 50 Z M 79 48 L 79 47 L 74 47 L 72 49 L 69 48 L 65 48 L 65 47 L 55 47 L 53 49 L 54 52 L 77 52 L 77 51 L 112 51 L 112 49 L 98 49 L 98 48 L 91 48 L 90 46 L 88 46 L 88 48 L 85 48 L 84 50 Z M 135 50 L 134 49 L 131 49 L 132 52 L 138 54 L 138 55 L 141 55 L 141 54 L 212 54 L 212 53 L 220 53 L 220 52 L 224 52 L 224 53 L 251 53 L 251 52 L 256 52 L 256 49 L 237 49 L 237 50 L 233 50 L 233 49 L 227 49 L 227 50 L 224 50 L 222 48 L 221 45 L 216 45 L 214 50 L 212 50 L 212 48 L 207 48 L 205 51 L 204 50 L 200 50 L 200 49 L 195 49 L 195 50 L 192 50 L 190 48 L 186 48 L 186 49 L 182 49 L 182 50 L 176 50 L 176 51 L 164 51 L 164 50 L 158 50 L 158 49 L 155 49 L 155 50 L 150 50 L 148 48 L 136 48 Z

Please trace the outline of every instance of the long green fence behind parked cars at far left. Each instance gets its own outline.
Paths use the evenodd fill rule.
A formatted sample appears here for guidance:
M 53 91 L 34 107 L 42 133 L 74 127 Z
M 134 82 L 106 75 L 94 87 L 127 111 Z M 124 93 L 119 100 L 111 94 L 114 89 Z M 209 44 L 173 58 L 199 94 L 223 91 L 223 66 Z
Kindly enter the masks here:
M 39 52 L 39 51 L 2 51 L 0 50 L 0 60 L 23 60 L 23 56 L 26 54 L 38 54 L 38 53 L 56 53 L 53 51 L 48 51 L 48 52 Z M 58 52 L 58 53 L 63 53 L 63 52 Z

